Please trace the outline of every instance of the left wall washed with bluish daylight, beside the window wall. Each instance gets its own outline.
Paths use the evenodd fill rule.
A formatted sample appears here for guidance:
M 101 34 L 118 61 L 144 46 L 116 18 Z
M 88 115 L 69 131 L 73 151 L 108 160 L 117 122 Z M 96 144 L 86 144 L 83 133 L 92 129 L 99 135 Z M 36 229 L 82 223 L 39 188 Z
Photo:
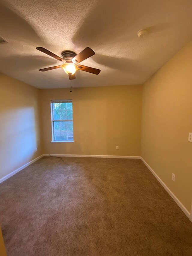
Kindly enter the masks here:
M 35 87 L 0 74 L 0 179 L 42 153 L 39 96 Z

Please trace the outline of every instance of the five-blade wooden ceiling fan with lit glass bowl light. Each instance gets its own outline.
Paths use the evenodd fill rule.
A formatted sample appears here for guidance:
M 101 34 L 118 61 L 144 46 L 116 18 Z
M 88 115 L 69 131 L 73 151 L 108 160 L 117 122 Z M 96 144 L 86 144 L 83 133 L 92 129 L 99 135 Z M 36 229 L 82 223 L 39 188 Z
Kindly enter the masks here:
M 63 68 L 65 73 L 69 76 L 69 80 L 75 79 L 75 72 L 77 70 L 86 71 L 95 75 L 98 75 L 100 73 L 100 69 L 97 68 L 91 68 L 83 65 L 78 65 L 79 62 L 82 62 L 83 60 L 93 56 L 95 52 L 91 50 L 91 48 L 86 47 L 82 52 L 79 54 L 76 54 L 72 51 L 64 51 L 61 53 L 61 57 L 55 55 L 54 53 L 50 52 L 49 50 L 46 50 L 43 47 L 36 47 L 37 50 L 41 51 L 42 53 L 45 53 L 61 62 L 64 62 L 64 64 L 49 68 L 42 68 L 39 69 L 39 71 L 48 71 L 56 68 Z

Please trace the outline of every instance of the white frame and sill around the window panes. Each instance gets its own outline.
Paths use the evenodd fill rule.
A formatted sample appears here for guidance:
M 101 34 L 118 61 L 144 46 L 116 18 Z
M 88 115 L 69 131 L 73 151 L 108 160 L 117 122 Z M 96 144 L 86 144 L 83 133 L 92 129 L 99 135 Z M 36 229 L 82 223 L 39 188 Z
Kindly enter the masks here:
M 53 115 L 53 104 L 54 103 L 72 103 L 73 111 L 73 101 L 72 100 L 51 100 L 51 130 L 52 130 L 52 141 L 51 143 L 74 143 L 74 129 L 73 129 L 73 140 L 55 140 L 54 136 L 54 122 L 73 122 L 72 120 L 54 120 Z

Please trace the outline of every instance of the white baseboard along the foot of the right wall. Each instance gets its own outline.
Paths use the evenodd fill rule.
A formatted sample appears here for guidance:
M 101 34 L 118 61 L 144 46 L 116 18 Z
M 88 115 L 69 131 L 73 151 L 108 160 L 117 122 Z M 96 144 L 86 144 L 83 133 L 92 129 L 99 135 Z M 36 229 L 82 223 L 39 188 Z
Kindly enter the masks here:
M 155 173 L 155 171 L 149 166 L 149 164 L 146 163 L 146 161 L 140 157 L 140 159 L 143 161 L 143 163 L 146 165 L 146 167 L 152 172 L 152 174 L 155 176 L 155 178 L 161 183 L 161 185 L 164 187 L 164 189 L 168 192 L 168 194 L 173 198 L 173 200 L 177 203 L 177 205 L 182 209 L 184 214 L 192 221 L 192 216 L 190 215 L 190 212 L 185 208 L 185 206 L 179 201 L 179 199 L 173 194 L 173 192 L 167 187 L 167 185 L 159 178 L 159 176 Z M 192 209 L 191 209 L 192 211 Z

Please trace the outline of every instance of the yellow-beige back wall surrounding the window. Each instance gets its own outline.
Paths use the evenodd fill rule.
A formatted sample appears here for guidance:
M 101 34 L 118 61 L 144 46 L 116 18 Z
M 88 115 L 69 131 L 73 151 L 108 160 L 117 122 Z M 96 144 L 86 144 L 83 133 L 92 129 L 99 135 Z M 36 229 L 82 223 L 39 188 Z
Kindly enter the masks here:
M 51 143 L 51 100 L 73 100 L 75 143 Z M 41 90 L 46 154 L 140 155 L 142 86 Z M 119 150 L 116 150 L 119 146 Z

